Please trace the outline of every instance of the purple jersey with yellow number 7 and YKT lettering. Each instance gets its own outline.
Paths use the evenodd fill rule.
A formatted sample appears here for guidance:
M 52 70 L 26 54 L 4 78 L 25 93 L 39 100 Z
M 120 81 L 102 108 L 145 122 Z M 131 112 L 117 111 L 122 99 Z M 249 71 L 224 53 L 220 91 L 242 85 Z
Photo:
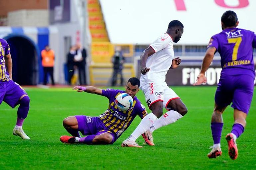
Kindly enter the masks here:
M 208 47 L 215 47 L 221 57 L 221 75 L 247 74 L 255 78 L 253 48 L 256 48 L 254 32 L 240 28 L 228 28 L 213 35 Z

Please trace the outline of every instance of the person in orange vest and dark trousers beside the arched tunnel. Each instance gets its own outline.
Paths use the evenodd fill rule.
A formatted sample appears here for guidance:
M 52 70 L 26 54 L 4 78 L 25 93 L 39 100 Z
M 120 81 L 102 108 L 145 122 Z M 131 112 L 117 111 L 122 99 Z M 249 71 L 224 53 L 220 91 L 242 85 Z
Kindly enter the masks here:
M 41 52 L 42 56 L 42 66 L 44 68 L 44 85 L 47 85 L 47 77 L 48 73 L 52 79 L 52 85 L 55 85 L 53 78 L 53 67 L 54 67 L 54 51 L 49 47 L 49 45 L 45 46 L 45 49 Z

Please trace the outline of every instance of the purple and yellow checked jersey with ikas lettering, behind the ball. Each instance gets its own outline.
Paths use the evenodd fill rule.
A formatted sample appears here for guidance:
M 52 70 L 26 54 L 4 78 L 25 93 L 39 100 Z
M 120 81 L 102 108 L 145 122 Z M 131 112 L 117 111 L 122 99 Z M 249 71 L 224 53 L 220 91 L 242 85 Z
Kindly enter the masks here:
M 125 93 L 125 91 L 109 88 L 102 90 L 102 95 L 109 99 L 109 105 L 108 109 L 99 116 L 103 124 L 114 132 L 117 138 L 130 126 L 136 115 L 139 115 L 141 119 L 147 115 L 145 107 L 136 96 L 133 98 L 131 110 L 119 110 L 115 104 L 115 100 L 121 93 Z

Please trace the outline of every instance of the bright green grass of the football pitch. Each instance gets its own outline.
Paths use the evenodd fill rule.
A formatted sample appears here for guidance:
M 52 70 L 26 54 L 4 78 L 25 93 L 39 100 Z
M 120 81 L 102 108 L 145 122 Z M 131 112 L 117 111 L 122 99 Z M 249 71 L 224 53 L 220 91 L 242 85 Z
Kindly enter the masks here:
M 255 96 L 245 133 L 237 140 L 238 159 L 229 158 L 225 141 L 233 124 L 233 109 L 230 107 L 223 114 L 222 156 L 209 159 L 206 155 L 212 145 L 210 119 L 216 87 L 173 89 L 187 105 L 188 114 L 175 124 L 155 131 L 156 146 L 123 148 L 120 146 L 122 141 L 139 124 L 139 117 L 112 145 L 64 144 L 59 138 L 68 133 L 62 120 L 70 115 L 98 116 L 106 110 L 108 99 L 76 93 L 70 88 L 27 88 L 31 104 L 23 129 L 31 140 L 12 135 L 18 107 L 12 109 L 3 102 L 0 106 L 0 169 L 255 169 Z M 142 91 L 137 96 L 146 105 Z M 143 138 L 137 142 L 142 144 Z

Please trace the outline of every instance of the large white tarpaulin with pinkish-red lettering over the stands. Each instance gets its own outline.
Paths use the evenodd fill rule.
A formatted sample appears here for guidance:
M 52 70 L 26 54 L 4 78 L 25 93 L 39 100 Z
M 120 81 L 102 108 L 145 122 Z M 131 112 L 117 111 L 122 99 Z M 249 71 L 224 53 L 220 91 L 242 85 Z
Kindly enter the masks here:
M 112 43 L 150 44 L 180 20 L 184 33 L 178 44 L 205 45 L 221 31 L 227 10 L 238 15 L 238 28 L 256 32 L 256 0 L 100 0 Z

